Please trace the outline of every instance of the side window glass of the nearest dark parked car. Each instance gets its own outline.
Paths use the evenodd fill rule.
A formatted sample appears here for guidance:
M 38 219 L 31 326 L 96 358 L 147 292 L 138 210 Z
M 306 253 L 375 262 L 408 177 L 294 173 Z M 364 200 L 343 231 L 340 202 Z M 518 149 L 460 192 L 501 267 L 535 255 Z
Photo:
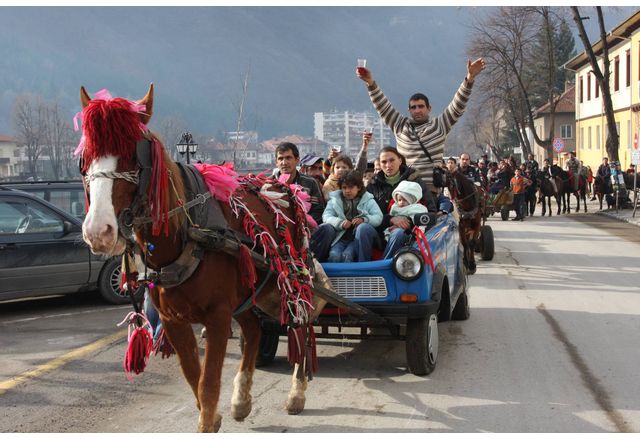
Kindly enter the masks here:
M 35 203 L 17 200 L 0 201 L 0 235 L 60 233 L 62 220 Z

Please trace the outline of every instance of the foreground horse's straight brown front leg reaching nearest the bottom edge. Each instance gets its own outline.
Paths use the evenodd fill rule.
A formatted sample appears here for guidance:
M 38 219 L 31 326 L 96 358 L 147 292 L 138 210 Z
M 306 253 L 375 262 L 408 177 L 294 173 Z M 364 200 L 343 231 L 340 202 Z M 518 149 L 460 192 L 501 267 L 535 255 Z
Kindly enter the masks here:
M 216 433 L 222 424 L 222 416 L 217 412 L 220 397 L 222 364 L 227 351 L 227 340 L 231 330 L 231 310 L 220 308 L 208 316 L 207 343 L 204 352 L 204 364 L 198 400 L 200 401 L 199 433 Z

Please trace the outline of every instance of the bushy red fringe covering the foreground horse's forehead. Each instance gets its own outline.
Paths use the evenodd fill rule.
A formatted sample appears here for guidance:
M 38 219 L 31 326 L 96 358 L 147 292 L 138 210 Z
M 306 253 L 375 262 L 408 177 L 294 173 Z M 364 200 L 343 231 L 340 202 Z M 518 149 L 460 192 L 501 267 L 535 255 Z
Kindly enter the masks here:
M 82 111 L 82 117 L 83 172 L 99 157 L 133 157 L 142 130 L 140 117 L 131 109 L 131 102 L 123 98 L 92 99 Z

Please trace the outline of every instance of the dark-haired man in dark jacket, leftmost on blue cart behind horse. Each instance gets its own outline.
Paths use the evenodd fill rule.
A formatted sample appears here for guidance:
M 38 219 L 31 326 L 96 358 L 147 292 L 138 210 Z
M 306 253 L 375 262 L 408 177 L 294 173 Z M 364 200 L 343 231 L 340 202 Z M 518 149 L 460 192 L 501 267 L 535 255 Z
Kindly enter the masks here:
M 298 172 L 297 166 L 300 162 L 300 153 L 298 147 L 290 142 L 282 142 L 276 147 L 276 166 L 278 170 L 274 173 L 274 177 L 278 178 L 282 174 L 289 174 L 288 183 L 299 184 L 302 189 L 309 194 L 311 199 L 311 209 L 309 215 L 316 221 L 322 223 L 322 212 L 324 212 L 324 197 L 322 191 L 315 178 Z

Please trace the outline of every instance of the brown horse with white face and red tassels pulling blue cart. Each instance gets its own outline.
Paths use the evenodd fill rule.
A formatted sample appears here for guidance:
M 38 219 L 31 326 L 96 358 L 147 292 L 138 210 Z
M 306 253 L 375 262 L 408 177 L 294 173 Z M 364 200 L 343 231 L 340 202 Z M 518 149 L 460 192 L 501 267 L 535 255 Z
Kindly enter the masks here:
M 130 255 L 135 249 L 144 258 L 144 265 L 159 274 L 155 283 L 148 283 L 149 294 L 195 395 L 199 432 L 217 432 L 221 426 L 217 407 L 231 319 L 240 324 L 244 344 L 233 381 L 231 414 L 237 421 L 244 420 L 251 412 L 251 386 L 261 337 L 254 304 L 281 320 L 285 309 L 295 305 L 283 302 L 279 291 L 283 285 L 295 287 L 295 294 L 307 291 L 304 287 L 309 283 L 304 280 L 310 279 L 309 270 L 313 269 L 316 282 L 330 285 L 320 264 L 314 261 L 307 270 L 301 262 L 308 248 L 306 217 L 300 215 L 299 209 L 302 205 L 288 186 L 274 182 L 269 191 L 276 193 L 277 204 L 274 201 L 270 207 L 264 187 L 252 187 L 249 183 L 253 180 L 238 177 L 232 166 L 216 165 L 202 165 L 209 172 L 202 175 L 205 180 L 218 173 L 222 175 L 219 181 L 225 181 L 214 188 L 210 201 L 215 198 L 215 202 L 203 204 L 210 192 L 195 194 L 190 201 L 187 195 L 193 192 L 189 192 L 186 183 L 190 180 L 186 176 L 194 174 L 199 165 L 173 162 L 160 139 L 146 128 L 153 113 L 153 84 L 145 97 L 135 102 L 111 99 L 110 95 L 98 98 L 97 94 L 91 99 L 84 87 L 80 88 L 80 100 L 83 140 L 78 149 L 82 150 L 81 172 L 89 200 L 82 225 L 84 241 L 93 253 L 107 256 Z M 242 181 L 245 184 L 240 184 Z M 276 205 L 279 208 L 274 212 Z M 194 209 L 201 208 L 205 209 L 204 214 L 198 219 Z M 216 224 L 209 231 L 218 233 L 206 235 L 197 221 L 206 224 L 212 217 Z M 293 226 L 287 226 L 286 219 Z M 278 221 L 285 221 L 285 225 Z M 280 225 L 276 227 L 277 224 Z M 258 256 L 243 243 L 251 234 L 255 234 L 254 242 L 260 243 L 257 248 L 262 249 Z M 208 245 L 201 245 L 194 236 Z M 285 238 L 286 251 L 302 255 L 294 260 L 296 267 L 272 254 Z M 260 291 L 256 291 L 259 275 L 253 262 L 260 256 L 266 259 L 267 269 L 260 279 Z M 128 257 L 124 260 L 123 271 L 129 278 Z M 300 317 L 300 326 L 290 329 L 290 335 L 297 337 L 296 346 L 302 345 L 303 350 L 305 342 L 308 346 L 315 341 L 313 328 L 306 325 L 315 320 L 324 305 L 321 299 L 312 300 L 311 309 L 300 308 L 301 314 L 293 316 Z M 302 319 L 304 312 L 309 313 L 308 319 Z M 202 364 L 191 326 L 194 323 L 204 325 L 207 331 Z M 300 334 L 305 336 L 302 340 Z M 292 339 L 289 341 L 291 347 Z M 295 367 L 286 409 L 289 414 L 298 414 L 304 408 L 304 392 L 310 378 L 309 350 L 306 354 L 298 352 L 293 358 L 291 350 L 289 354 Z

